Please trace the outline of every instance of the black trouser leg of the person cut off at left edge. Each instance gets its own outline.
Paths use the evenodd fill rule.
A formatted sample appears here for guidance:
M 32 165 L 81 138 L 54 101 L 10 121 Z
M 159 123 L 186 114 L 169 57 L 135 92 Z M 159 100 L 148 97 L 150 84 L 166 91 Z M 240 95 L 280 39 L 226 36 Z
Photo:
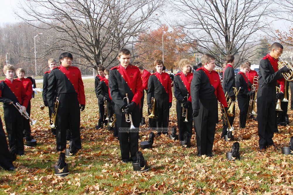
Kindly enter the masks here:
M 3 130 L 2 120 L 0 118 L 0 166 L 4 169 L 9 169 L 10 167 L 13 167 L 12 161 L 11 161 L 11 155 L 8 150 L 8 145 L 6 141 L 6 136 Z

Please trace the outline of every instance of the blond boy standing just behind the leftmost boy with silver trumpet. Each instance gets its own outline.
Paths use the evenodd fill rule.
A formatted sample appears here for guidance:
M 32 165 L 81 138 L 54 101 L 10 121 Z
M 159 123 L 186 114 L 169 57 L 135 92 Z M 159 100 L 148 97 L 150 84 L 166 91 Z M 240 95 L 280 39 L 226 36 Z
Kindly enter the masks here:
M 32 99 L 33 95 L 33 83 L 30 81 L 30 79 L 24 78 L 25 70 L 22 68 L 18 68 L 16 70 L 16 75 L 17 80 L 22 82 L 23 87 L 26 91 L 26 95 L 28 96 L 28 107 L 26 108 L 26 112 L 28 113 L 28 116 L 30 116 L 30 100 Z M 23 129 L 24 132 L 28 131 L 29 135 L 31 134 L 29 119 L 23 119 Z

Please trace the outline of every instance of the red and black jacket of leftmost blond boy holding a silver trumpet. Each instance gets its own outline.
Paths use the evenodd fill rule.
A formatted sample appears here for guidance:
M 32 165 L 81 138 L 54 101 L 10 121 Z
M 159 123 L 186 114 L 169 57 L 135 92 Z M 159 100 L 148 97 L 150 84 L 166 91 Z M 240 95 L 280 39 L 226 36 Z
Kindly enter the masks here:
M 1 82 L 5 82 L 6 85 L 9 87 L 9 89 L 12 91 L 12 93 L 16 96 L 19 104 L 23 105 L 25 108 L 28 107 L 28 96 L 26 94 L 26 91 L 23 87 L 23 84 L 21 81 L 17 80 L 17 79 L 13 79 L 13 82 L 11 83 L 11 81 L 9 79 L 5 79 Z M 0 82 L 0 83 L 1 83 Z M 0 96 L 2 96 L 2 91 L 0 91 Z M 7 97 L 9 98 L 9 97 Z M 16 102 L 13 102 L 14 104 Z

